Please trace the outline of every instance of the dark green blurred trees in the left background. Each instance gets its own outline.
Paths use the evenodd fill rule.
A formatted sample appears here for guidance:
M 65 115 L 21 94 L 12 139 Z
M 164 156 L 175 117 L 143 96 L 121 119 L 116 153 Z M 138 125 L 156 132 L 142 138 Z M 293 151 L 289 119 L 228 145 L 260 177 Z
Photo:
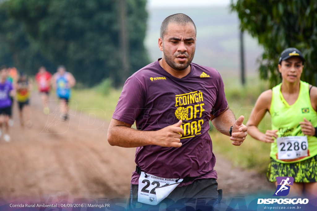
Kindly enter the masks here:
M 126 0 L 129 75 L 149 62 L 143 45 L 145 5 L 146 0 Z M 0 37 L 11 40 L 5 53 L 0 54 L 0 62 L 7 59 L 30 73 L 39 66 L 35 60 L 46 61 L 52 68 L 63 64 L 87 85 L 108 77 L 115 85 L 126 80 L 119 74 L 122 62 L 118 1 L 9 0 L 0 5 L 1 10 L 1 16 L 6 17 L 0 17 Z M 12 59 L 8 59 L 10 53 Z

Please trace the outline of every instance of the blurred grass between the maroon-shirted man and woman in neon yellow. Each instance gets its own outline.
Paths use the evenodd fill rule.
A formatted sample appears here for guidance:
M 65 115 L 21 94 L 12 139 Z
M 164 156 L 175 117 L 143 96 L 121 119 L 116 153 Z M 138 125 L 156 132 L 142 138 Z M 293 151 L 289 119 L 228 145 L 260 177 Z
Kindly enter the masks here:
M 223 82 L 230 109 L 236 118 L 244 115 L 243 123 L 246 124 L 256 99 L 263 91 L 268 89 L 268 84 L 260 81 L 257 76 L 247 78 L 245 86 L 242 86 L 240 80 L 237 80 L 236 77 L 225 77 Z M 267 114 L 259 124 L 262 132 L 270 128 L 270 122 L 270 115 Z M 217 153 L 220 153 L 236 166 L 254 169 L 259 173 L 266 172 L 269 163 L 270 144 L 262 143 L 248 135 L 241 146 L 233 146 L 228 136 L 213 128 L 210 136 L 216 157 Z

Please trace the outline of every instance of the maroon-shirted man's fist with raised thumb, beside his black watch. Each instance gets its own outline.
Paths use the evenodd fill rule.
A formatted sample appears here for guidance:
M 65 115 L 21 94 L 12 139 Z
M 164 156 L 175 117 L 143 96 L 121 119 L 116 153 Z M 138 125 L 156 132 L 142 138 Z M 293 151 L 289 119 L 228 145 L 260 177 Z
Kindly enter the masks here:
M 243 120 L 244 116 L 240 116 L 232 127 L 230 140 L 232 140 L 232 144 L 235 146 L 240 146 L 245 140 L 245 137 L 248 135 L 248 127 L 242 123 Z

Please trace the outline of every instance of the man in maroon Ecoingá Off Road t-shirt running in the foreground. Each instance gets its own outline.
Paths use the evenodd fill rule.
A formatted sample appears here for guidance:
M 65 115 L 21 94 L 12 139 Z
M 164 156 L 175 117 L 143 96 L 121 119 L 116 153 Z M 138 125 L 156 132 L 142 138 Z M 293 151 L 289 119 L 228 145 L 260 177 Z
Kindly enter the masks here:
M 228 109 L 223 81 L 211 67 L 191 63 L 196 27 L 174 14 L 161 24 L 163 58 L 126 80 L 108 130 L 113 146 L 137 147 L 130 205 L 156 205 L 165 197 L 213 198 L 217 172 L 209 120 L 239 146 L 247 127 Z M 132 129 L 133 123 L 137 129 Z M 165 199 L 166 201 L 166 199 Z

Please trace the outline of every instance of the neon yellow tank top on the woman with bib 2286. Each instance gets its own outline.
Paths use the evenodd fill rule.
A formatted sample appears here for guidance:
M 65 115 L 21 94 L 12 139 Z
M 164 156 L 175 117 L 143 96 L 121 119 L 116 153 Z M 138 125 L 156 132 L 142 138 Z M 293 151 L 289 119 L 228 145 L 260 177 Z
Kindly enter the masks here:
M 304 136 L 301 132 L 299 122 L 304 121 L 304 117 L 312 122 L 313 127 L 317 127 L 317 113 L 313 109 L 309 97 L 309 84 L 300 82 L 299 95 L 293 105 L 289 105 L 281 93 L 281 84 L 272 88 L 272 101 L 269 110 L 272 117 L 272 130 L 278 130 L 278 137 L 283 136 Z M 270 157 L 281 163 L 294 163 L 311 158 L 317 154 L 317 138 L 307 136 L 308 156 L 297 160 L 277 159 L 276 140 L 271 144 Z

